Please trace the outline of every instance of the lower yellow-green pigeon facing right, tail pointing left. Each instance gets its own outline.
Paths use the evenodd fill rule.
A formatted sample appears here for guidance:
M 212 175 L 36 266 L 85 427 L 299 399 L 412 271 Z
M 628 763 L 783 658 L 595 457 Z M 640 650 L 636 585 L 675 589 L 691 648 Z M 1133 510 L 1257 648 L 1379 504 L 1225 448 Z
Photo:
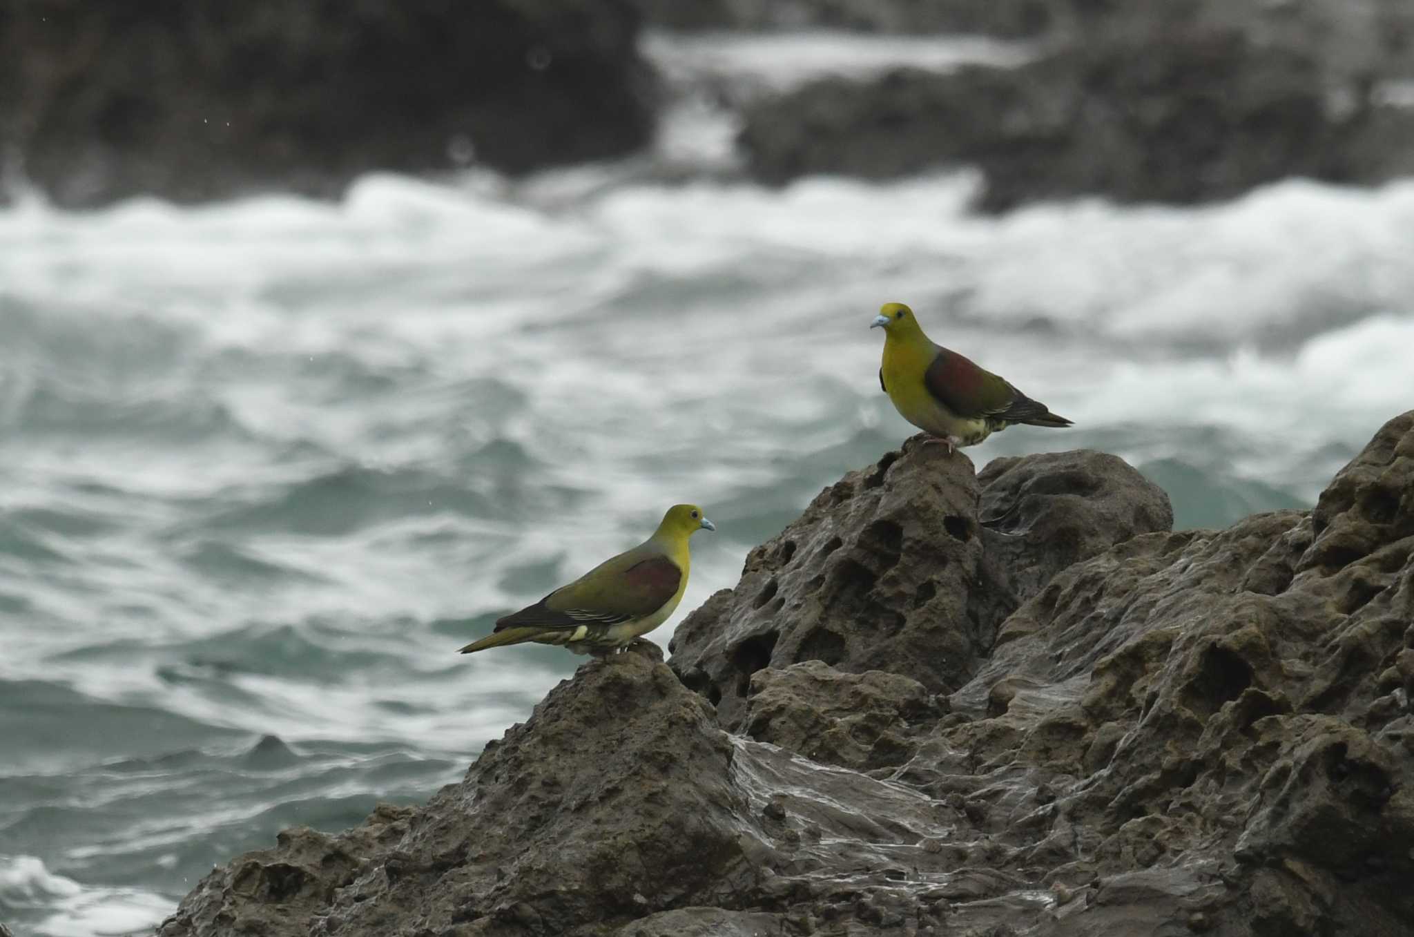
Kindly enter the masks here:
M 604 654 L 653 630 L 673 613 L 687 589 L 687 538 L 715 530 L 696 505 L 674 505 L 653 536 L 534 605 L 496 622 L 495 630 L 461 653 L 536 642 L 577 654 Z

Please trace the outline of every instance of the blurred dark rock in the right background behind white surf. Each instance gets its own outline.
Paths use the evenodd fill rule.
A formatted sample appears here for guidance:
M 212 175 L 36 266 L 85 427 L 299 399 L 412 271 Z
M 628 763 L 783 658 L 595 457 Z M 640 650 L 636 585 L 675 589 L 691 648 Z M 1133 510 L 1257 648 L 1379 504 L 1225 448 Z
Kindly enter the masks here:
M 1017 69 L 823 78 L 745 112 L 751 171 L 889 178 L 977 165 L 981 206 L 1104 195 L 1232 198 L 1290 175 L 1377 184 L 1414 171 L 1414 7 L 1056 4 L 1049 51 Z

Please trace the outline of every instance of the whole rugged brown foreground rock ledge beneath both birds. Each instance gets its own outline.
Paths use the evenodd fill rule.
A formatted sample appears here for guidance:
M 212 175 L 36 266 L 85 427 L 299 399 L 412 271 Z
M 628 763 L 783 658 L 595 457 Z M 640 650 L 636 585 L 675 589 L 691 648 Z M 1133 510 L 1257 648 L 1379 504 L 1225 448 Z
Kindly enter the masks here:
M 1311 512 L 1169 531 L 1096 452 L 909 442 L 673 657 L 423 807 L 281 832 L 163 937 L 1414 933 L 1414 411 Z

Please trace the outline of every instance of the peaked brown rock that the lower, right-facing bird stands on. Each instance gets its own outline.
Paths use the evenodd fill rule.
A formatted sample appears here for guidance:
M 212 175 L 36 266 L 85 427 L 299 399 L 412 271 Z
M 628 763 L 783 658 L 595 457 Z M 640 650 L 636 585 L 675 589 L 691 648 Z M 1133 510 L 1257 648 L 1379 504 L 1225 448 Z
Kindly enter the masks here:
M 392 834 L 301 834 L 242 856 L 160 933 L 392 934 L 416 920 L 568 934 L 730 903 L 764 851 L 738 834 L 751 806 L 731 760 L 710 707 L 666 666 L 622 654 L 561 683 Z

